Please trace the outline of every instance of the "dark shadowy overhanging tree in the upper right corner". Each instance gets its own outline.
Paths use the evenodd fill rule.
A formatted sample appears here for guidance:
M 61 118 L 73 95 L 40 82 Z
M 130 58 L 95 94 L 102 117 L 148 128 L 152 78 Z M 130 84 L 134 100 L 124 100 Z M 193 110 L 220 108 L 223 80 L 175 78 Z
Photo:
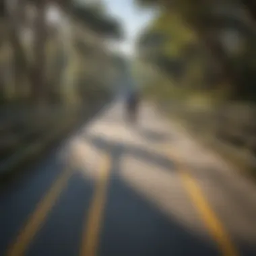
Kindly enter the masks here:
M 255 4 L 253 1 L 243 1 L 247 3 L 247 6 L 241 5 L 240 1 L 208 1 L 208 0 L 177 0 L 177 1 L 164 1 L 164 0 L 137 0 L 139 5 L 156 6 L 163 5 L 168 10 L 169 15 L 173 13 L 179 13 L 183 20 L 187 22 L 187 25 L 193 28 L 197 33 L 198 38 L 205 44 L 207 49 L 212 52 L 212 57 L 222 69 L 222 76 L 224 80 L 227 80 L 229 84 L 232 84 L 232 92 L 234 97 L 240 97 L 241 95 L 250 96 L 252 93 L 252 86 L 255 84 L 256 77 L 250 75 L 251 83 L 242 82 L 243 77 L 248 76 L 248 72 L 245 69 L 235 65 L 238 59 L 244 61 L 247 59 L 247 67 L 249 68 L 249 55 L 254 56 L 255 51 L 251 44 L 255 45 L 256 32 L 255 26 L 253 26 L 253 20 L 246 15 L 248 7 L 251 8 L 251 13 L 255 10 Z M 245 38 L 247 44 L 246 50 L 241 52 L 240 56 L 234 56 L 225 47 L 223 43 L 223 32 L 227 34 L 231 29 L 236 30 L 236 33 L 241 38 Z M 247 57 L 246 57 L 247 56 Z M 251 59 L 255 59 L 251 57 Z M 249 61 L 249 62 L 248 62 Z M 251 73 L 255 73 L 256 66 L 251 63 Z M 240 65 L 241 66 L 241 65 Z M 247 69 L 248 69 L 247 68 Z

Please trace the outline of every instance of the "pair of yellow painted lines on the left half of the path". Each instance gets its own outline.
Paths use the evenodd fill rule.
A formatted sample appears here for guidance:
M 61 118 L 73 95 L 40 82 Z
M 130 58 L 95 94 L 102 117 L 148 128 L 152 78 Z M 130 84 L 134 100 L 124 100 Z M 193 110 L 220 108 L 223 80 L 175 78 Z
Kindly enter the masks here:
M 89 209 L 88 222 L 84 227 L 84 235 L 82 238 L 82 248 L 80 255 L 96 255 L 96 247 L 98 241 L 98 234 L 100 232 L 100 223 L 102 219 L 102 212 L 104 208 L 104 201 L 106 199 L 106 188 L 108 181 L 108 174 L 110 170 L 110 159 L 108 156 L 103 156 L 99 179 L 96 183 L 96 192 L 92 199 L 92 204 Z M 65 185 L 71 177 L 72 170 L 66 168 L 61 175 L 57 178 L 57 181 L 53 184 L 51 189 L 44 195 L 41 201 L 31 216 L 24 224 L 24 227 L 15 238 L 13 243 L 7 249 L 6 256 L 24 256 L 28 251 L 29 245 L 32 242 L 34 236 L 43 226 L 46 217 L 55 205 L 55 202 L 61 195 Z

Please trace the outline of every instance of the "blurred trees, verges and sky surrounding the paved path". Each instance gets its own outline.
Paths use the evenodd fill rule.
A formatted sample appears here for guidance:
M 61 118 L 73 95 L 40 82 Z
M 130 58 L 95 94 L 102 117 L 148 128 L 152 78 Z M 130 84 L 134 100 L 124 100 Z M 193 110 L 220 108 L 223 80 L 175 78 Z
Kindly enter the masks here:
M 91 115 L 129 73 L 193 135 L 255 169 L 253 1 L 1 0 L 0 8 L 4 162 Z

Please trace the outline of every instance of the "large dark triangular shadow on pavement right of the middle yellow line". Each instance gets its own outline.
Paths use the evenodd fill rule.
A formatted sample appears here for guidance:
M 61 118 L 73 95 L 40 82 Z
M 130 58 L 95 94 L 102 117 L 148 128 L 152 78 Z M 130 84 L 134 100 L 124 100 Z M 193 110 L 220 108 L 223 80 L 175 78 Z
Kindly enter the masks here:
M 99 255 L 215 256 L 218 252 L 207 238 L 164 216 L 154 203 L 117 177 L 110 180 Z

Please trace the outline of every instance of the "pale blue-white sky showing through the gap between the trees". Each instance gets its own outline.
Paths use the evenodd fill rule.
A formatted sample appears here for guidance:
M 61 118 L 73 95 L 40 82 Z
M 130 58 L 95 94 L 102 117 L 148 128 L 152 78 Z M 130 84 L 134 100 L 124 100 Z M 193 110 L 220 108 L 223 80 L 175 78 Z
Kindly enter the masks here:
M 125 30 L 125 41 L 114 44 L 125 55 L 132 55 L 137 35 L 154 18 L 150 10 L 141 10 L 134 4 L 135 0 L 103 0 L 110 15 L 119 19 Z

